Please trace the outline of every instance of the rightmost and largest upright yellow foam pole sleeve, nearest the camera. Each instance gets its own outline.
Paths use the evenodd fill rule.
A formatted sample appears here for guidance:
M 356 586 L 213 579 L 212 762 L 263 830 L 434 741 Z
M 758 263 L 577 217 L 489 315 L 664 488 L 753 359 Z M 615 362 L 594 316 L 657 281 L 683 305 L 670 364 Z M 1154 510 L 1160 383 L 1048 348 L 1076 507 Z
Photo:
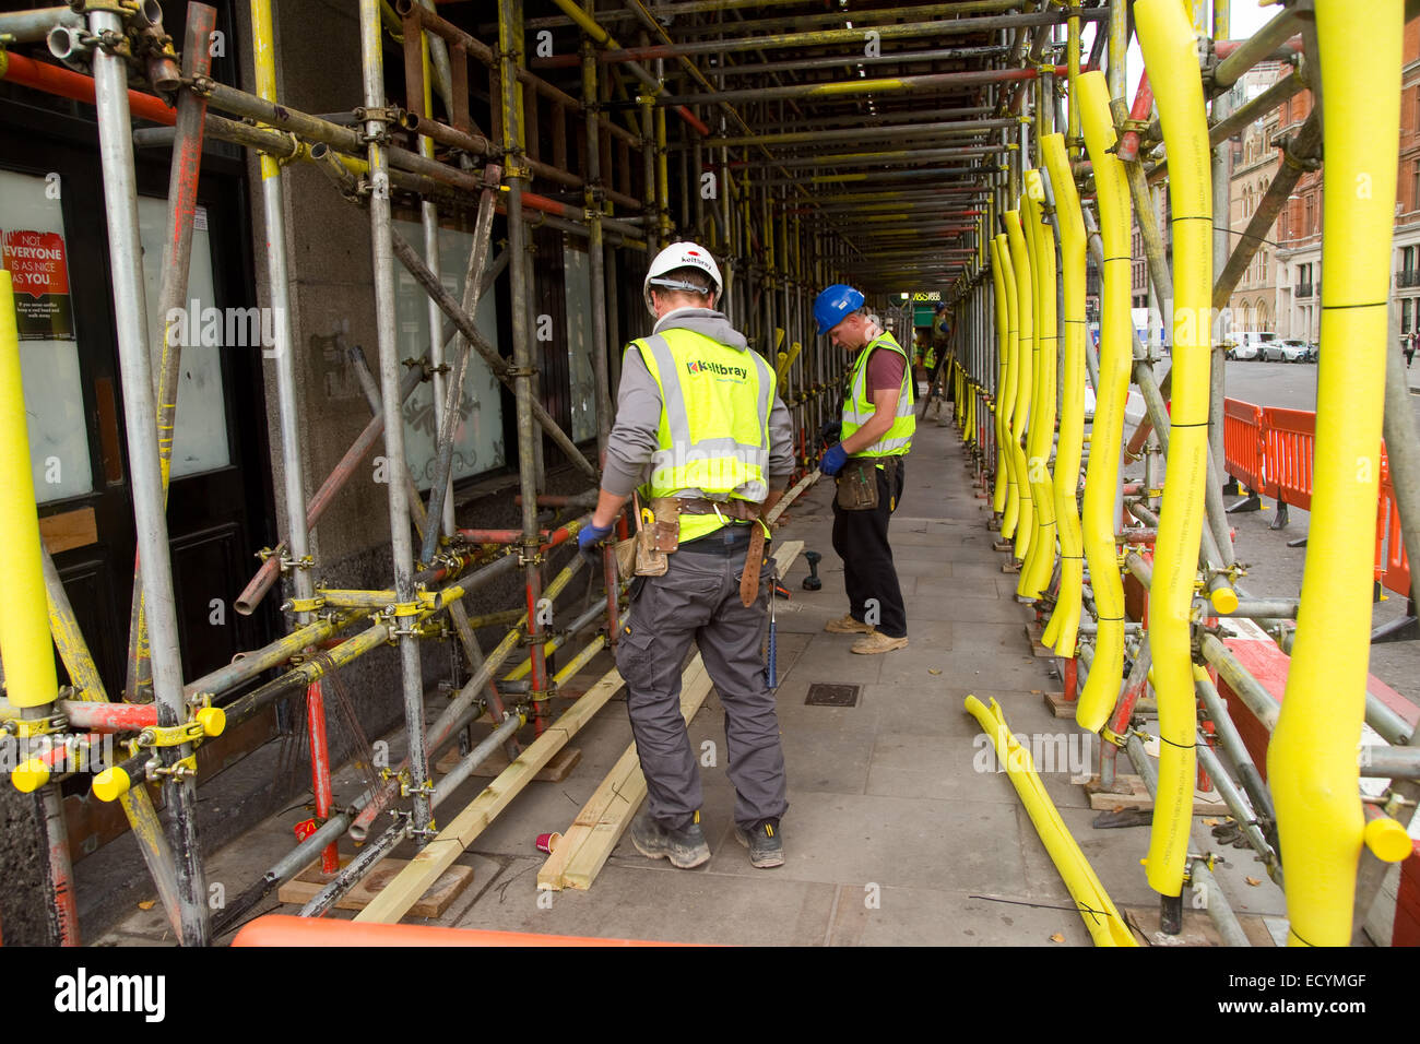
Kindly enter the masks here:
M 1386 301 L 1396 205 L 1402 0 L 1318 0 L 1322 97 L 1322 362 L 1312 537 L 1287 697 L 1267 781 L 1287 866 L 1288 940 L 1346 946 L 1363 812 L 1356 747 L 1366 713 Z M 1170 169 L 1173 159 L 1169 161 Z

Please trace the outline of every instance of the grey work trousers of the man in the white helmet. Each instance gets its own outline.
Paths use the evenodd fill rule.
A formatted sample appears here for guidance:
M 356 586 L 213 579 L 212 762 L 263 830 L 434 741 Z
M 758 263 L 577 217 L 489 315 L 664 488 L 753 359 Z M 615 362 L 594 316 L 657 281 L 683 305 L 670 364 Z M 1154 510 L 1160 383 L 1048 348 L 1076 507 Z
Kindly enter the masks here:
M 723 555 L 692 544 L 670 555 L 663 577 L 638 577 L 633 591 L 639 591 L 616 643 L 650 815 L 670 830 L 689 825 L 701 801 L 700 766 L 680 714 L 680 670 L 692 641 L 724 706 L 734 821 L 748 830 L 788 808 L 780 722 L 760 653 L 771 567 L 765 561 L 758 598 L 746 608 L 744 554 L 743 545 Z

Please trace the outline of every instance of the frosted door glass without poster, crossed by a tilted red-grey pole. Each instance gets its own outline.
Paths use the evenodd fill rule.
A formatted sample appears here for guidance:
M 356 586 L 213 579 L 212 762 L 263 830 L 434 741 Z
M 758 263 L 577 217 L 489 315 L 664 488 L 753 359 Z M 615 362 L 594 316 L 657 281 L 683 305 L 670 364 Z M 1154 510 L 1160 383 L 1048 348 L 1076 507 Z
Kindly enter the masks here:
M 231 463 L 227 446 L 227 410 L 222 389 L 222 352 L 261 349 L 260 344 L 247 345 L 244 337 L 247 331 L 244 328 L 239 331 L 236 325 L 230 332 L 243 334 L 236 338 L 240 344 L 229 342 L 229 324 L 216 310 L 212 243 L 207 237 L 207 212 L 203 207 L 197 207 L 193 224 L 187 301 L 183 304 L 187 331 L 178 378 L 178 426 L 173 430 L 173 479 Z M 148 345 L 156 393 L 163 349 L 163 317 L 158 314 L 158 294 L 162 286 L 163 237 L 168 234 L 168 200 L 139 196 L 138 230 L 143 244 L 143 295 L 148 300 Z

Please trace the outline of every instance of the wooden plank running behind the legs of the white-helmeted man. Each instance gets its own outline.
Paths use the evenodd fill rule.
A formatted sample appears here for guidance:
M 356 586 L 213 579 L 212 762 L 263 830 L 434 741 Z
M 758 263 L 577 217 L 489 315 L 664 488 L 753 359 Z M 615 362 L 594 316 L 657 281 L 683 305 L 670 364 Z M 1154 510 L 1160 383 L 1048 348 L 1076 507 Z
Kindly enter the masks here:
M 805 482 L 801 487 L 807 489 L 811 484 Z M 802 540 L 791 540 L 774 553 L 781 577 L 790 571 L 802 550 Z M 680 713 L 687 724 L 700 710 L 710 689 L 709 673 L 697 653 L 680 679 Z M 642 776 L 636 744 L 632 743 L 562 832 L 557 851 L 538 871 L 537 886 L 552 891 L 591 888 L 645 797 L 646 777 Z

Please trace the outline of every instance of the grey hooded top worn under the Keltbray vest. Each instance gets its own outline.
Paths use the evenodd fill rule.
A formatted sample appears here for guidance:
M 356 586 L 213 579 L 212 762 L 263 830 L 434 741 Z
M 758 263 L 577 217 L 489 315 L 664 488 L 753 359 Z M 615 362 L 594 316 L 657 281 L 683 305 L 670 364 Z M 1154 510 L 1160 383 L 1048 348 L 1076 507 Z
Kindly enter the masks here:
M 750 351 L 748 341 L 723 312 L 710 308 L 677 308 L 667 312 L 655 327 L 656 334 L 667 330 L 693 330 L 719 341 L 727 348 Z M 646 369 L 640 352 L 626 352 L 622 359 L 621 388 L 616 392 L 616 422 L 606 440 L 606 467 L 602 489 L 619 497 L 629 497 L 650 474 L 650 457 L 659 443 L 660 388 Z M 794 473 L 794 429 L 788 406 L 775 391 L 770 410 L 770 489 L 784 489 Z

